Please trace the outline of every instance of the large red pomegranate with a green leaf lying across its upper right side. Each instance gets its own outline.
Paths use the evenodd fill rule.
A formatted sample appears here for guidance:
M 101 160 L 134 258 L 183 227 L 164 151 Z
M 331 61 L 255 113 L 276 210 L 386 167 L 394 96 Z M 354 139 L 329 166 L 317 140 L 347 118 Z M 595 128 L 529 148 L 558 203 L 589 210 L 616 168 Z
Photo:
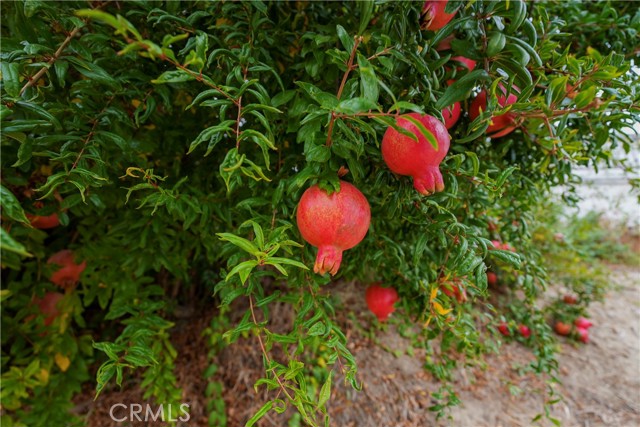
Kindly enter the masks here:
M 404 117 L 419 120 L 433 134 L 438 150 L 422 135 L 420 130 Z M 417 136 L 418 142 L 389 127 L 382 137 L 382 158 L 393 172 L 413 177 L 413 186 L 420 194 L 429 195 L 444 190 L 440 163 L 449 151 L 450 137 L 447 128 L 438 119 L 428 115 L 410 113 L 400 116 L 398 126 Z

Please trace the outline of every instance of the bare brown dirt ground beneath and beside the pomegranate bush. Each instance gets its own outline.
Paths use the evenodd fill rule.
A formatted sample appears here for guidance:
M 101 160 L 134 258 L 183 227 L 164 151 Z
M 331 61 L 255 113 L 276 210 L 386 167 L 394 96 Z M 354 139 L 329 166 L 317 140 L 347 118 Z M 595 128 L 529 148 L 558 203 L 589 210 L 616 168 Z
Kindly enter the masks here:
M 637 427 L 640 426 L 640 266 L 612 266 L 612 288 L 604 303 L 590 308 L 595 326 L 591 341 L 577 345 L 561 341 L 560 379 L 558 386 L 564 400 L 556 404 L 551 415 L 567 427 Z M 336 285 L 344 306 L 356 313 L 358 321 L 367 312 L 353 284 Z M 286 306 L 283 306 L 286 307 Z M 286 308 L 275 308 L 286 310 Z M 286 328 L 290 313 L 276 313 Z M 274 313 L 272 313 L 272 316 Z M 348 326 L 353 319 L 344 319 Z M 183 402 L 190 403 L 192 418 L 182 427 L 206 427 L 207 411 L 204 390 L 207 381 L 202 372 L 208 366 L 204 338 L 199 335 L 208 319 L 181 328 L 176 342 L 179 351 L 176 377 L 183 387 Z M 366 320 L 365 320 L 366 323 Z M 498 355 L 489 356 L 484 369 L 460 369 L 455 389 L 462 401 L 449 413 L 450 418 L 436 420 L 429 407 L 434 404 L 430 393 L 439 387 L 422 368 L 421 356 L 406 352 L 396 355 L 371 342 L 358 328 L 347 331 L 350 350 L 358 362 L 358 379 L 363 390 L 356 392 L 334 381 L 329 411 L 332 426 L 339 427 L 511 427 L 530 426 L 543 410 L 545 382 L 533 375 L 518 373 L 533 360 L 531 352 L 518 343 L 504 345 Z M 253 389 L 262 370 L 262 359 L 254 338 L 240 340 L 224 350 L 217 363 L 216 378 L 223 381 L 228 426 L 243 426 L 257 411 L 266 396 Z M 388 348 L 404 350 L 408 341 L 389 328 L 379 335 Z M 398 354 L 402 353 L 402 354 Z M 91 391 L 78 399 L 77 412 L 86 414 L 89 427 L 161 426 L 162 423 L 114 423 L 108 415 L 118 402 L 144 403 L 142 393 L 131 379 L 122 390 L 106 391 L 91 401 Z M 512 395 L 510 390 L 519 389 Z M 269 413 L 258 425 L 286 426 L 285 413 Z M 542 421 L 543 425 L 550 425 Z

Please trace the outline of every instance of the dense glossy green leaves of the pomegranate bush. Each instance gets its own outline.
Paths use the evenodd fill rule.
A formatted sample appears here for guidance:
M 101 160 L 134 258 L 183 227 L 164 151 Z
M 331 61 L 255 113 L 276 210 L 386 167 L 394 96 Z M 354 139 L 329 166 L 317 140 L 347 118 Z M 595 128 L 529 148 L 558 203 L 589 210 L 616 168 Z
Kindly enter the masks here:
M 417 342 L 433 352 L 440 337 L 428 369 L 446 380 L 456 363 L 447 352 L 477 360 L 486 350 L 487 329 L 474 320 L 478 310 L 491 316 L 485 270 L 500 263 L 518 273 L 535 368 L 553 372 L 553 340 L 535 308 L 547 278 L 535 207 L 551 187 L 577 182 L 575 166 L 613 165 L 612 149 L 629 151 L 640 12 L 632 3 L 450 3 L 456 17 L 436 33 L 419 29 L 419 2 L 3 4 L 3 422 L 77 423 L 70 398 L 96 364 L 97 392 L 143 369 L 147 394 L 179 399 L 175 310 L 195 299 L 226 313 L 243 299 L 241 320 L 210 334 L 228 344 L 255 336 L 264 353 L 256 387 L 273 399 L 248 425 L 287 407 L 309 425 L 328 423 L 332 381 L 360 384 L 330 279 L 309 272 L 315 249 L 302 245 L 294 213 L 309 185 L 335 188 L 347 170 L 372 223 L 338 278 L 398 290 L 399 316 L 422 325 Z M 450 34 L 452 51 L 436 50 Z M 476 69 L 447 65 L 460 54 Z M 508 107 L 519 130 L 490 141 L 500 82 L 521 89 Z M 488 111 L 451 130 L 445 191 L 420 196 L 385 167 L 381 135 L 397 114 L 441 118 L 480 87 L 492 94 Z M 62 225 L 34 229 L 25 212 L 57 212 Z M 490 250 L 492 239 L 517 252 Z M 44 327 L 31 301 L 54 288 L 44 261 L 64 248 L 87 269 Z M 471 301 L 439 291 L 447 281 Z M 286 334 L 270 330 L 276 302 L 296 312 Z M 333 372 L 322 385 L 307 381 L 304 356 L 319 341 Z M 443 390 L 437 411 L 457 400 Z

